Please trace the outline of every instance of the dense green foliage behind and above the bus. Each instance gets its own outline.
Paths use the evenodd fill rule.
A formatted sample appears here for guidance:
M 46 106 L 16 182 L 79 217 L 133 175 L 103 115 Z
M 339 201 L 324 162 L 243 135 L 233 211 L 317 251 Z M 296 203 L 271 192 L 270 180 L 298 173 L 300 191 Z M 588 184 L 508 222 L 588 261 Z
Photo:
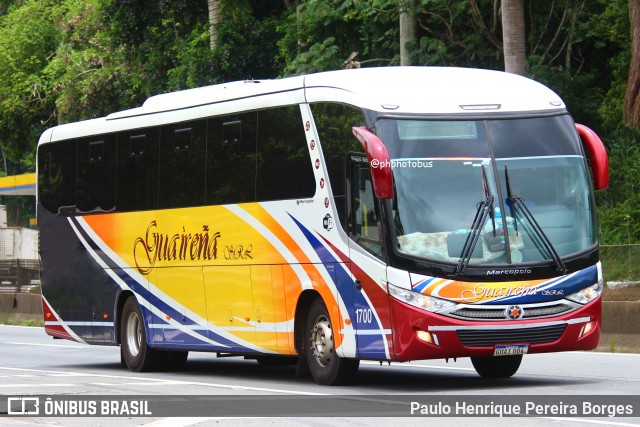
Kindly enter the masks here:
M 158 93 L 341 69 L 354 52 L 363 67 L 397 65 L 400 10 L 409 7 L 412 64 L 503 68 L 500 0 L 221 3 L 212 50 L 205 0 L 0 1 L 0 174 L 33 170 L 45 128 Z M 597 196 L 602 241 L 638 242 L 640 134 L 621 126 L 628 2 L 524 4 L 529 76 L 557 91 L 609 151 L 611 187 Z

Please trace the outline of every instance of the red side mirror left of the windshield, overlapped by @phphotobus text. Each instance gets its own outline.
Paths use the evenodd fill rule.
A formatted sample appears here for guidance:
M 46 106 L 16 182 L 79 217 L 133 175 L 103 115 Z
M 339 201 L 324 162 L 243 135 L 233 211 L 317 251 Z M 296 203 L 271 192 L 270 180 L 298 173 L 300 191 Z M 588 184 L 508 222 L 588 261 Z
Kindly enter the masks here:
M 393 199 L 393 175 L 391 173 L 391 159 L 380 138 L 365 127 L 354 126 L 353 134 L 364 147 L 369 159 L 373 192 L 379 199 Z

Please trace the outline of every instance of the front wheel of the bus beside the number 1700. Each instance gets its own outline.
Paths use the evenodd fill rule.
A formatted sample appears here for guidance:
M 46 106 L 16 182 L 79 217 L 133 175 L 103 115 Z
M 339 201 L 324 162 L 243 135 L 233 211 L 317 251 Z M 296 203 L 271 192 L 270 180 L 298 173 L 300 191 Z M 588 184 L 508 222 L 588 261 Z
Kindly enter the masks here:
M 360 360 L 345 359 L 335 352 L 333 326 L 322 298 L 317 297 L 309 307 L 305 340 L 309 370 L 318 384 L 347 384 L 358 372 Z

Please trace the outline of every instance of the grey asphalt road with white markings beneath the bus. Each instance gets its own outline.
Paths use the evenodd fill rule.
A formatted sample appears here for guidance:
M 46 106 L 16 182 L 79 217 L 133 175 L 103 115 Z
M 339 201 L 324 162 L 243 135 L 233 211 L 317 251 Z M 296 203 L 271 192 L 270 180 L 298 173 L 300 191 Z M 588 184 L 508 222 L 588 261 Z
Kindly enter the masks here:
M 311 378 L 296 377 L 294 366 L 262 367 L 242 358 L 216 358 L 214 354 L 190 353 L 186 367 L 179 372 L 133 373 L 120 367 L 117 347 L 87 346 L 64 340 L 53 340 L 41 328 L 0 326 L 0 399 L 14 396 L 127 396 L 135 398 L 173 396 L 237 397 L 235 404 L 247 405 L 247 414 L 234 417 L 216 416 L 206 407 L 197 417 L 192 413 L 146 417 L 6 417 L 0 416 L 0 426 L 209 426 L 209 425 L 539 425 L 552 421 L 555 425 L 615 425 L 640 426 L 640 414 L 634 417 L 563 417 L 541 413 L 534 417 L 441 417 L 421 418 L 336 418 L 325 403 L 332 395 L 341 400 L 384 402 L 399 395 L 421 395 L 425 401 L 443 399 L 472 401 L 473 398 L 497 396 L 533 400 L 549 396 L 605 396 L 624 399 L 640 395 L 640 355 L 597 352 L 568 352 L 527 355 L 518 373 L 504 380 L 483 380 L 469 359 L 383 364 L 362 362 L 355 382 L 344 387 L 322 387 Z M 395 395 L 395 396 L 394 396 Z M 310 396 L 310 397 L 309 397 Z M 315 398 L 313 396 L 316 396 Z M 511 397 L 509 397 L 511 396 Z M 260 399 L 291 399 L 308 397 L 318 402 L 314 417 L 256 417 L 250 410 Z M 187 400 L 186 398 L 185 400 Z M 198 398 L 191 398 L 197 400 Z M 317 400 L 316 400 L 317 399 Z M 552 400 L 558 398 L 552 398 Z M 637 400 L 637 399 L 636 399 Z M 238 401 L 240 403 L 238 403 Z M 272 400 L 273 401 L 273 400 Z M 287 400 L 283 400 L 288 402 Z M 519 400 L 518 400 L 519 401 Z M 278 402 L 276 400 L 276 402 Z M 2 403 L 0 401 L 0 403 Z M 193 402 L 191 402 L 193 403 Z M 424 402 L 422 402 L 424 403 Z M 566 402 L 565 402 L 566 403 Z M 261 404 L 264 404 L 263 402 Z M 289 404 L 289 403 L 287 403 Z M 295 412 L 296 400 L 291 401 Z M 206 402 L 204 403 L 206 406 Z M 445 405 L 446 406 L 446 405 Z M 1 406 L 0 406 L 1 407 Z M 275 407 L 275 406 L 274 406 Z M 636 408 L 640 411 L 640 405 Z M 306 411 L 306 409 L 305 409 Z M 180 411 L 178 411 L 180 412 Z M 324 416 L 326 414 L 326 416 Z M 363 416 L 368 415 L 366 412 Z M 90 422 L 88 422 L 90 420 Z M 434 421 L 435 424 L 433 423 Z

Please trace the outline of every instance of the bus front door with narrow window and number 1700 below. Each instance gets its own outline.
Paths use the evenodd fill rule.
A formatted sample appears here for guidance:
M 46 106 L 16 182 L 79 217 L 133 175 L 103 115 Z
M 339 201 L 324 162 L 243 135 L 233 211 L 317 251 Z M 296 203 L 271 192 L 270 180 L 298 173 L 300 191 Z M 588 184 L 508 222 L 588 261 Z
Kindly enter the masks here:
M 369 161 L 364 154 L 349 154 L 347 174 L 348 232 L 351 273 L 354 276 L 352 323 L 358 357 L 386 359 L 390 329 L 389 306 L 381 283 L 386 283 L 386 262 L 380 223 L 380 204 L 373 191 Z

